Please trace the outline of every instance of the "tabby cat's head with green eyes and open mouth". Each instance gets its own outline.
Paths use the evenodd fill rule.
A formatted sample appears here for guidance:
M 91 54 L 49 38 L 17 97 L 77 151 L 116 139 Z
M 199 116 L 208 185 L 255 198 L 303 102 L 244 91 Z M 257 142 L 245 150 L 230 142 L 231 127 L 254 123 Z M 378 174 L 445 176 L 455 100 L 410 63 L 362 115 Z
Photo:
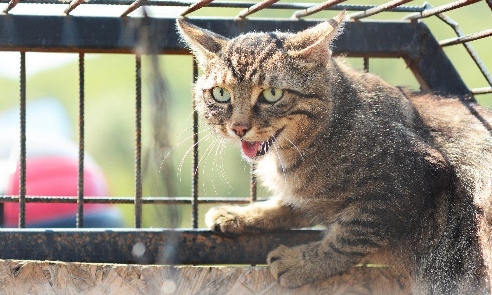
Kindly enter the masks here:
M 199 112 L 220 134 L 241 142 L 247 159 L 297 148 L 329 113 L 330 42 L 343 16 L 296 34 L 247 33 L 233 39 L 178 19 L 202 70 L 193 91 Z

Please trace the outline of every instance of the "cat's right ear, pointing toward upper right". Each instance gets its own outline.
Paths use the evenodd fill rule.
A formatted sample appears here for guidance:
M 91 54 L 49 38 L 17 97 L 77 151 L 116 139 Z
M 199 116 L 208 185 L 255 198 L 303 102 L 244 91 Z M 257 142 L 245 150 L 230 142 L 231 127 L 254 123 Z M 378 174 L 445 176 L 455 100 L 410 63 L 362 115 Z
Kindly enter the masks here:
M 331 55 L 330 42 L 341 34 L 344 16 L 345 11 L 342 11 L 328 21 L 287 38 L 284 46 L 289 55 L 313 66 L 326 65 Z

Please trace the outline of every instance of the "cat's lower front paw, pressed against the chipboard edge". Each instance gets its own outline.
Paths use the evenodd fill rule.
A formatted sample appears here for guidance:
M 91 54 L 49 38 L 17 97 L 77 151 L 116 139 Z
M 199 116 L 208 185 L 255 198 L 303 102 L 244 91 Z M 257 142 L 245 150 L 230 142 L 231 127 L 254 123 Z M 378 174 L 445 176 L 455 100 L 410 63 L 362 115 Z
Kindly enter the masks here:
M 267 262 L 272 276 L 286 288 L 298 288 L 315 280 L 303 259 L 302 246 L 280 246 L 268 254 Z

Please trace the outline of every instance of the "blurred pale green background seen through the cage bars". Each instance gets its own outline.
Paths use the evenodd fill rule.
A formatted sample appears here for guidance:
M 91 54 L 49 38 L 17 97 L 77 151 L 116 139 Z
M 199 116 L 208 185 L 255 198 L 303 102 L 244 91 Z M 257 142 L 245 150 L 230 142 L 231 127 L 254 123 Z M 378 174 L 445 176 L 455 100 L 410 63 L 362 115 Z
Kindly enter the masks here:
M 284 2 L 284 0 L 282 0 Z M 312 3 L 320 1 L 308 1 Z M 381 4 L 385 0 L 348 1 L 350 4 Z M 435 0 L 431 4 L 439 6 L 448 3 L 446 0 Z M 423 2 L 414 1 L 410 4 L 421 5 Z M 123 8 L 122 8 L 123 9 Z M 204 8 L 191 16 L 235 16 L 240 9 L 231 8 Z M 292 10 L 263 10 L 254 17 L 290 17 Z M 335 11 L 320 12 L 311 16 L 316 19 L 329 18 L 337 14 Z M 460 24 L 465 34 L 478 32 L 492 27 L 492 12 L 485 1 L 463 7 L 446 13 Z M 400 19 L 405 13 L 381 13 L 369 19 Z M 431 28 L 434 36 L 439 39 L 455 37 L 453 30 L 436 17 L 424 19 Z M 382 32 L 384 33 L 384 32 Z M 492 69 L 492 38 L 485 38 L 472 42 L 478 55 Z M 460 73 L 469 88 L 488 86 L 486 80 L 469 57 L 462 45 L 445 47 L 445 52 Z M 70 55 L 70 54 L 59 54 Z M 76 56 L 76 54 L 71 54 Z M 27 53 L 27 68 L 33 56 Z M 35 58 L 39 58 L 39 54 Z M 348 58 L 356 68 L 362 67 L 361 58 Z M 142 150 L 144 171 L 144 196 L 163 196 L 166 192 L 163 185 L 165 179 L 175 183 L 177 196 L 191 194 L 191 153 L 184 159 L 181 177 L 177 167 L 186 151 L 191 147 L 191 139 L 185 140 L 192 134 L 191 112 L 191 83 L 192 58 L 191 56 L 166 55 L 159 57 L 160 71 L 168 86 L 170 98 L 169 124 L 162 126 L 168 131 L 171 146 L 175 148 L 165 161 L 171 161 L 175 171 L 171 175 L 159 174 L 161 163 L 155 158 L 155 139 L 151 124 L 151 109 L 148 68 L 149 57 L 143 57 L 143 127 Z M 409 69 L 405 68 L 402 59 L 370 58 L 369 71 L 377 73 L 391 84 L 418 89 L 418 83 Z M 85 71 L 85 130 L 86 151 L 105 172 L 110 192 L 113 196 L 132 196 L 134 194 L 134 110 L 135 110 L 135 58 L 128 54 L 87 54 Z M 19 82 L 16 78 L 0 78 L 2 99 L 0 110 L 16 106 L 19 96 Z M 28 75 L 27 99 L 36 100 L 42 97 L 59 99 L 68 110 L 73 120 L 74 138 L 77 136 L 78 114 L 78 63 L 74 60 L 68 64 L 49 70 L 39 71 Z M 492 94 L 477 95 L 480 104 L 492 108 Z M 203 128 L 201 129 L 203 130 Z M 200 135 L 206 135 L 208 131 Z M 200 136 L 201 138 L 202 136 Z M 200 145 L 200 156 L 205 154 L 199 170 L 199 195 L 215 196 L 249 196 L 249 165 L 241 158 L 238 147 L 225 145 L 222 161 L 216 153 L 215 147 L 206 149 L 213 144 L 215 137 L 204 140 Z M 27 147 L 29 149 L 29 147 Z M 167 150 L 158 151 L 161 155 Z M 207 156 L 210 155 L 210 156 Z M 208 160 L 207 160 L 208 158 Z M 218 162 L 223 171 L 218 169 Z M 225 178 L 225 179 L 224 179 Z M 230 186 L 229 186 L 229 184 Z M 75 185 L 75 184 L 74 184 Z M 259 187 L 260 196 L 268 196 L 268 192 Z M 125 214 L 127 225 L 133 225 L 133 206 L 120 206 Z M 203 215 L 209 205 L 199 207 L 199 226 L 204 227 Z M 170 206 L 144 205 L 144 227 L 169 227 Z M 191 207 L 180 205 L 174 207 L 180 217 L 180 227 L 191 226 Z

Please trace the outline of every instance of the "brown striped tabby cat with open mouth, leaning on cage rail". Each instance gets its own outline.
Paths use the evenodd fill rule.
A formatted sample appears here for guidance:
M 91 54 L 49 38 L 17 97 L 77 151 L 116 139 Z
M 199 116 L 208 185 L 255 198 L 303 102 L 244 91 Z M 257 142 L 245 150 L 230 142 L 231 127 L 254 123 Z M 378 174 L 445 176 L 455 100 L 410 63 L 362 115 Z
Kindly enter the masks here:
M 199 113 L 274 194 L 212 208 L 207 226 L 238 236 L 324 225 L 322 240 L 269 253 L 288 288 L 371 259 L 405 273 L 414 294 L 490 293 L 492 112 L 352 69 L 330 50 L 343 18 L 233 39 L 177 20 L 203 72 Z

